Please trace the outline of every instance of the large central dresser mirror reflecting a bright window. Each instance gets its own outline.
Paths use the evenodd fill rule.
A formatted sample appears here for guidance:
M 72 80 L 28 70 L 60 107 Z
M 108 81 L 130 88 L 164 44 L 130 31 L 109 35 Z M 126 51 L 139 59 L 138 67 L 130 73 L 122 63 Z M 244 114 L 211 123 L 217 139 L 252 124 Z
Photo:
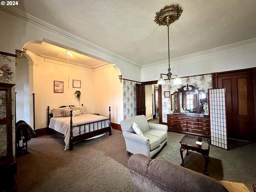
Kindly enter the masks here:
M 180 112 L 197 113 L 197 93 L 181 92 L 180 93 Z

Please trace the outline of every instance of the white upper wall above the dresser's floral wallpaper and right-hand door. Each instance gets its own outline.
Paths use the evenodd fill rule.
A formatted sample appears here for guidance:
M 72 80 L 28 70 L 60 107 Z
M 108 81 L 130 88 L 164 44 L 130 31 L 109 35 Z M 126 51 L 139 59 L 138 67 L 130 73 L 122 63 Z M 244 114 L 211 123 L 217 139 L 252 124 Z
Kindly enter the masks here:
M 247 43 L 247 44 L 246 44 Z M 256 38 L 236 46 L 223 46 L 170 61 L 172 74 L 179 77 L 223 72 L 256 66 Z M 149 64 L 142 68 L 142 82 L 158 80 L 167 73 L 168 61 Z M 163 76 L 166 78 L 166 76 Z

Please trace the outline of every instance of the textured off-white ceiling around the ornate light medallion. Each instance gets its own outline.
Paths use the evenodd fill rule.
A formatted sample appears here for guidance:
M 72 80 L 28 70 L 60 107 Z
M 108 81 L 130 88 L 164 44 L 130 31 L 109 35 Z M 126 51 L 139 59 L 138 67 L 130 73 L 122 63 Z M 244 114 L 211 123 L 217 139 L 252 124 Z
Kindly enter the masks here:
M 170 25 L 176 58 L 256 37 L 256 0 L 26 0 L 16 8 L 139 65 L 168 59 L 167 27 L 156 12 L 179 4 Z

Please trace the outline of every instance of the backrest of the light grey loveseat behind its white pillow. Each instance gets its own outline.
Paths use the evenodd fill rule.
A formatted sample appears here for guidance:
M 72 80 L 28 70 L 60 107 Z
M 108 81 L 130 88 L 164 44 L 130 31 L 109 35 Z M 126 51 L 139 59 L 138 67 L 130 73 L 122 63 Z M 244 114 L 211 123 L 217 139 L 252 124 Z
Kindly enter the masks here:
M 129 131 L 135 133 L 132 129 L 132 124 L 134 122 L 139 126 L 140 130 L 142 130 L 143 133 L 149 130 L 148 120 L 146 116 L 137 115 L 120 121 L 122 131 Z

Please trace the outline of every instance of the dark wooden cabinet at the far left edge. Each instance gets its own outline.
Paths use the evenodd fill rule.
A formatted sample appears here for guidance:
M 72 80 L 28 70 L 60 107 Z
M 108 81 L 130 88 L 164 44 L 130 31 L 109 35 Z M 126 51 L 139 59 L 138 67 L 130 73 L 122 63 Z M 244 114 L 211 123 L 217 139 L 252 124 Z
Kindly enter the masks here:
M 17 164 L 13 156 L 12 95 L 14 84 L 0 83 L 0 191 L 16 191 L 14 175 Z

